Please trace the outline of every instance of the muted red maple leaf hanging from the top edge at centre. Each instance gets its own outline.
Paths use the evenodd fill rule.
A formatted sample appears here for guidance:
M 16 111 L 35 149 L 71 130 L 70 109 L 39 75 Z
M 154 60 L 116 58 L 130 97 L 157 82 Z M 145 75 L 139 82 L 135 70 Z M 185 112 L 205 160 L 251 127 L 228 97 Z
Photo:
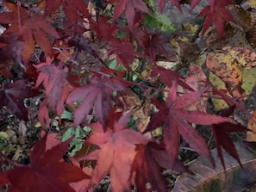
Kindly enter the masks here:
M 121 16 L 124 12 L 128 20 L 128 26 L 132 30 L 134 28 L 135 9 L 144 13 L 148 12 L 147 4 L 142 0 L 110 0 L 109 3 L 116 3 L 113 22 Z

